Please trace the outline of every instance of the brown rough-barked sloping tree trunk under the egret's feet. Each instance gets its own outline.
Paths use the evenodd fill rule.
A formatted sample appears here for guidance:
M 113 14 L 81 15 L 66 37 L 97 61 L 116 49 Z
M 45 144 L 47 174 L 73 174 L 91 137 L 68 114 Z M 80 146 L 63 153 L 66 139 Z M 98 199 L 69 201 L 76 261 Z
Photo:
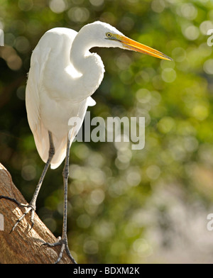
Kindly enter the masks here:
M 0 163 L 0 195 L 9 196 L 27 204 L 13 184 L 11 174 Z M 35 213 L 35 225 L 31 229 L 31 215 L 27 215 L 10 233 L 14 223 L 25 212 L 12 201 L 0 199 L 0 263 L 1 264 L 52 264 L 57 260 L 60 246 L 48 248 L 43 243 L 55 243 L 57 239 Z M 4 225 L 3 218 L 4 217 Z M 60 263 L 72 263 L 64 252 Z

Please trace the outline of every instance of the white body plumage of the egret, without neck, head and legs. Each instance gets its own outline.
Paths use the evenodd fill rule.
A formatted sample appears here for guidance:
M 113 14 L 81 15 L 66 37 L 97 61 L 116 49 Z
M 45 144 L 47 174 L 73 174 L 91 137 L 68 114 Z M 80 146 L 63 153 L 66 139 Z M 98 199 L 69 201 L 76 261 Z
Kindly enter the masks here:
M 68 28 L 49 30 L 40 39 L 31 57 L 31 70 L 26 86 L 28 123 L 44 162 L 48 160 L 50 147 L 48 130 L 52 132 L 55 146 L 52 169 L 57 168 L 65 159 L 69 119 L 77 116 L 84 120 L 87 106 L 95 104 L 90 95 L 104 77 L 102 67 L 98 85 L 87 87 L 90 85 L 87 82 L 84 86 L 82 73 L 70 64 L 70 49 L 76 35 L 77 32 Z M 90 79 L 92 81 L 92 77 Z M 82 94 L 78 94 L 80 90 Z M 77 131 L 80 127 L 81 125 L 77 127 Z M 71 143 L 73 139 L 74 137 L 71 138 Z

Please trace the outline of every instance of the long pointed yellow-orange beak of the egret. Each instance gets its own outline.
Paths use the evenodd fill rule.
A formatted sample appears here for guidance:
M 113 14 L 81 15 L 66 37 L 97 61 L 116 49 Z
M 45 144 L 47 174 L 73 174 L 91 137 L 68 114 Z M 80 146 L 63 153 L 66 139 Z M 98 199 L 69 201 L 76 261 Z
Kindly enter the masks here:
M 113 39 L 113 38 L 112 38 Z M 162 52 L 155 50 L 153 48 L 150 48 L 146 45 L 142 45 L 142 43 L 138 43 L 135 40 L 131 40 L 130 38 L 125 37 L 124 35 L 114 35 L 115 40 L 119 40 L 124 46 L 124 48 L 127 48 L 129 50 L 141 52 L 144 54 L 151 55 L 153 57 L 157 57 L 163 60 L 173 60 L 167 55 L 163 54 Z

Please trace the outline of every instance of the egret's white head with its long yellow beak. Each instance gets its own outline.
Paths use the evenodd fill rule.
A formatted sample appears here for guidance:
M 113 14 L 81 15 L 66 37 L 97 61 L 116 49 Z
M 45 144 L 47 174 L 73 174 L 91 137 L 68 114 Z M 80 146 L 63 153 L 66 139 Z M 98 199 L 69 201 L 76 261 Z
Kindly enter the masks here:
M 97 46 L 104 48 L 124 48 L 127 50 L 133 50 L 158 57 L 160 59 L 172 60 L 170 57 L 158 50 L 127 38 L 124 34 L 119 32 L 119 30 L 108 23 L 95 21 L 94 23 L 87 24 L 87 26 L 84 26 L 84 28 L 85 36 L 87 37 L 87 40 L 90 40 L 93 44 L 91 45 L 92 47 Z

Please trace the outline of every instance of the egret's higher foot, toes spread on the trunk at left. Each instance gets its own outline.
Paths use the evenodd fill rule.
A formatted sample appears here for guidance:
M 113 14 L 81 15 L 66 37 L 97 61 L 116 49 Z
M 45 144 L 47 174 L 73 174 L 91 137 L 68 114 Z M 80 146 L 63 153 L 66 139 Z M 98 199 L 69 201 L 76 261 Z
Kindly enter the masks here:
M 16 199 L 10 198 L 8 196 L 2 196 L 0 195 L 0 199 L 6 199 L 9 201 L 13 201 L 13 203 L 15 203 L 16 205 L 18 205 L 19 207 L 22 208 L 26 208 L 25 213 L 23 213 L 23 216 L 21 216 L 20 218 L 18 218 L 18 220 L 16 221 L 15 225 L 13 226 L 13 228 L 11 229 L 10 233 L 15 230 L 15 228 L 18 226 L 18 223 L 22 221 L 22 219 L 31 211 L 31 229 L 33 228 L 34 225 L 34 213 L 35 213 L 35 204 L 21 204 L 19 203 Z

